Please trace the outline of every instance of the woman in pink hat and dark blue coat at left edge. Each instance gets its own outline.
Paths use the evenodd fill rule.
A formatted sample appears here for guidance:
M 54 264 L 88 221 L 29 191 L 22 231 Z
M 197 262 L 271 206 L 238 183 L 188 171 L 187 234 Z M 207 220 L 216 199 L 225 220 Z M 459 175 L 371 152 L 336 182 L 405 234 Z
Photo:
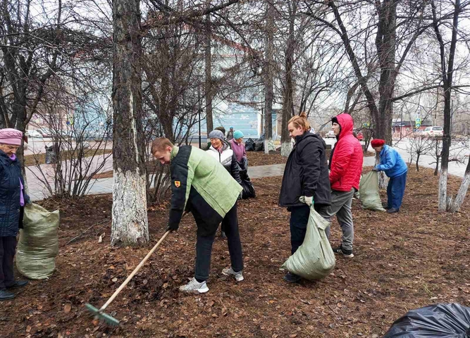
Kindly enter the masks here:
M 0 130 L 0 301 L 15 298 L 10 290 L 27 284 L 13 277 L 16 235 L 23 225 L 23 207 L 30 203 L 16 158 L 22 139 L 23 132 L 19 130 Z

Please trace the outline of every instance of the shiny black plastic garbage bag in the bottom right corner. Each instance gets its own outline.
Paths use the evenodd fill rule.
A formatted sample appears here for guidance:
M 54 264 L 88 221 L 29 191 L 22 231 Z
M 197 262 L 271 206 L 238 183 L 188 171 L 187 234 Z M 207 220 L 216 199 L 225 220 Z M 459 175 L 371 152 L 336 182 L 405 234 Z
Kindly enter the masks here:
M 409 311 L 383 338 L 470 338 L 470 308 L 457 303 Z

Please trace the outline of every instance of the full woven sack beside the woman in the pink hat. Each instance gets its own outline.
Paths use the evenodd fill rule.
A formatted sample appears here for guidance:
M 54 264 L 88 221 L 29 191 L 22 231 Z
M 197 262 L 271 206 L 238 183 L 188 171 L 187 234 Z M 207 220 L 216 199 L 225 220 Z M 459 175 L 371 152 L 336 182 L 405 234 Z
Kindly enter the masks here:
M 16 252 L 16 268 L 32 280 L 44 280 L 56 270 L 58 210 L 27 204 Z

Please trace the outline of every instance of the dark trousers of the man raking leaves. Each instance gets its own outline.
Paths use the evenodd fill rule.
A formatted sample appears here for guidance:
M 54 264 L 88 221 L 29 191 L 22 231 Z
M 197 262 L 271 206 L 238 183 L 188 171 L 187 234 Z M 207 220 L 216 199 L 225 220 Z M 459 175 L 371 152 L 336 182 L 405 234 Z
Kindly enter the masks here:
M 194 219 L 196 220 L 197 227 L 204 224 L 204 217 L 198 213 L 193 213 Z M 228 252 L 230 253 L 230 263 L 235 272 L 243 270 L 243 255 L 242 255 L 242 244 L 240 242 L 240 234 L 238 232 L 238 216 L 237 216 L 237 204 L 228 211 L 222 220 L 223 231 L 227 235 Z M 209 271 L 211 270 L 211 253 L 212 244 L 214 244 L 214 238 L 216 237 L 216 230 L 213 233 L 203 236 L 197 232 L 197 243 L 196 243 L 196 263 L 194 266 L 194 277 L 197 280 L 208 280 Z

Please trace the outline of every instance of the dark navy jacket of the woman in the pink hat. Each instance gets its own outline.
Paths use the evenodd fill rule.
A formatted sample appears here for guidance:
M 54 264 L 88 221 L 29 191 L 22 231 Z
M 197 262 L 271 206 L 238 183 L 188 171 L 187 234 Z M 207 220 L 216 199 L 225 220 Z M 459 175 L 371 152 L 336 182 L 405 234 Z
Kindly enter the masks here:
M 25 186 L 21 175 L 18 159 L 11 160 L 0 150 L 0 237 L 16 236 L 20 222 L 20 180 Z M 23 191 L 25 203 L 30 198 Z

